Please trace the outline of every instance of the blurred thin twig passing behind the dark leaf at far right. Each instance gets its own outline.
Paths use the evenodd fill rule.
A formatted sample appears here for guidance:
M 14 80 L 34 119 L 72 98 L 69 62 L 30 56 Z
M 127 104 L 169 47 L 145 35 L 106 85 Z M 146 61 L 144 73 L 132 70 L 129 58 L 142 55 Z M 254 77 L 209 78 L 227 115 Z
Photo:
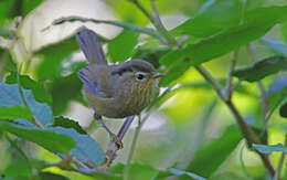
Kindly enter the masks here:
M 256 59 L 255 59 L 255 52 L 254 52 L 254 47 L 248 44 L 246 46 L 246 50 L 249 54 L 249 59 L 251 59 L 251 62 L 254 64 L 256 62 Z M 261 81 L 257 82 L 257 85 L 258 85 L 258 88 L 261 91 L 261 98 L 262 98 L 262 112 L 263 112 L 263 133 L 265 133 L 267 130 L 267 113 L 268 113 L 268 104 L 267 104 L 267 94 L 266 94 L 266 89 L 264 87 L 264 85 L 262 84 Z

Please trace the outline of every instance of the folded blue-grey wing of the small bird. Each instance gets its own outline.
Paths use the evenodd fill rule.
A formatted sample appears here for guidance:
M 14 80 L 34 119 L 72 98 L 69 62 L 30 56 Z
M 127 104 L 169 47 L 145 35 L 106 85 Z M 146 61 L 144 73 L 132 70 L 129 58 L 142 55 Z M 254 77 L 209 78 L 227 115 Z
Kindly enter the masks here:
M 93 78 L 93 74 L 89 71 L 88 66 L 81 68 L 77 72 L 77 75 L 87 91 L 100 97 L 108 97 L 108 95 L 105 92 L 99 89 L 99 84 L 98 84 L 99 82 Z

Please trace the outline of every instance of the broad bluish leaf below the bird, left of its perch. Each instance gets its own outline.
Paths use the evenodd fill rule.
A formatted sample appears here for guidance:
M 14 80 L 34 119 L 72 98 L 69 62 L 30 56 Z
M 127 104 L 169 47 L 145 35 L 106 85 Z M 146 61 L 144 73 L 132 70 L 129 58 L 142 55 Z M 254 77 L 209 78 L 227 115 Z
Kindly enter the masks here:
M 73 128 L 67 129 L 62 128 L 60 126 L 51 127 L 47 129 L 56 134 L 72 137 L 76 145 L 75 148 L 73 148 L 70 152 L 72 156 L 74 156 L 83 163 L 93 162 L 99 166 L 104 162 L 106 158 L 105 152 L 100 149 L 99 145 L 89 135 L 82 135 Z

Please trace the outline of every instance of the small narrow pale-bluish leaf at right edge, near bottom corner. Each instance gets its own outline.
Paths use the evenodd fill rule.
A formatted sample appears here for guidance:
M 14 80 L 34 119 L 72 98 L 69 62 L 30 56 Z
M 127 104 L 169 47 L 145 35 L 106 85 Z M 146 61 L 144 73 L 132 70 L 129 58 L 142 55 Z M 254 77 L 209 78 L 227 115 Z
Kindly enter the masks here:
M 269 146 L 253 144 L 252 146 L 253 146 L 253 148 L 255 148 L 256 150 L 258 150 L 262 153 L 269 155 L 274 151 L 287 153 L 287 148 L 283 144 L 269 145 Z

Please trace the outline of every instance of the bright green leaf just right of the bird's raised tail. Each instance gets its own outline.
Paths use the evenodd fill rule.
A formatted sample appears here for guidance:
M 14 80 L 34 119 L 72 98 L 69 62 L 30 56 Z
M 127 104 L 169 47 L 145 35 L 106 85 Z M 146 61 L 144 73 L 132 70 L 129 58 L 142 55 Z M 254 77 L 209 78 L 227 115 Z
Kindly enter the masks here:
M 138 43 L 138 32 L 123 31 L 108 43 L 108 55 L 113 62 L 124 62 L 134 53 Z

